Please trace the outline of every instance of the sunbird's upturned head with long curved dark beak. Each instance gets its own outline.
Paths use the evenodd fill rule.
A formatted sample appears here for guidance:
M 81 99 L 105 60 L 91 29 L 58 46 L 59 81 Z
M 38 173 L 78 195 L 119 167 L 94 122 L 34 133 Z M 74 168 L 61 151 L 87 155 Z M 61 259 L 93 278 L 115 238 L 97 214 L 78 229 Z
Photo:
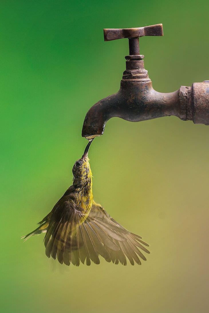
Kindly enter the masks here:
M 89 164 L 88 151 L 91 145 L 91 141 L 88 142 L 83 156 L 78 159 L 72 169 L 74 180 L 79 180 L 81 183 L 86 183 L 91 180 L 91 168 Z

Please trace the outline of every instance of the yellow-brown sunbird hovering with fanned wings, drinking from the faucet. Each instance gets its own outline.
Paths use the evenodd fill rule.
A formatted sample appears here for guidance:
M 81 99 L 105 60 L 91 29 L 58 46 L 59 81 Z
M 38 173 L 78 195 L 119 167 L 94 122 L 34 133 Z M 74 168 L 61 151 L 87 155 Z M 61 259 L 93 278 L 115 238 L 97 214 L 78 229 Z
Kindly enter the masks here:
M 83 156 L 73 166 L 73 184 L 54 208 L 47 214 L 39 227 L 21 238 L 27 240 L 33 235 L 46 233 L 44 245 L 46 255 L 58 259 L 61 264 L 80 262 L 90 265 L 91 261 L 100 263 L 99 256 L 107 262 L 123 265 L 127 259 L 141 264 L 146 261 L 144 247 L 149 247 L 142 237 L 129 232 L 116 222 L 100 204 L 93 200 L 92 173 L 89 164 L 88 142 Z

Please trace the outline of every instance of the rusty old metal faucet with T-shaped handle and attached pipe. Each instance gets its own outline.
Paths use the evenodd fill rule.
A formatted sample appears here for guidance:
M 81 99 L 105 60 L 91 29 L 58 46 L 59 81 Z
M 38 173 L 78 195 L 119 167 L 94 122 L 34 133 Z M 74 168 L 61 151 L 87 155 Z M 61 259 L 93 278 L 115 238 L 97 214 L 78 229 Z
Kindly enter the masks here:
M 138 122 L 175 115 L 182 121 L 209 125 L 209 80 L 180 86 L 170 93 L 155 91 L 144 69 L 144 55 L 139 53 L 139 37 L 143 36 L 163 36 L 163 25 L 104 29 L 105 41 L 128 38 L 129 55 L 125 56 L 120 90 L 90 108 L 83 123 L 83 137 L 90 140 L 102 135 L 111 117 Z

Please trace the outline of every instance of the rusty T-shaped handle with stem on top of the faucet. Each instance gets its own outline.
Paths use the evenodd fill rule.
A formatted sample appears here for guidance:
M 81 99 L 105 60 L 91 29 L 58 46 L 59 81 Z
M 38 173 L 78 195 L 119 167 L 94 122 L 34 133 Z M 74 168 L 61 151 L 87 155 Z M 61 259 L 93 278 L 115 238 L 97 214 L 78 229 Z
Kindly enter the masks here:
M 138 28 L 105 28 L 104 40 L 128 38 L 129 54 L 139 55 L 139 37 L 144 36 L 163 36 L 163 24 L 156 24 Z

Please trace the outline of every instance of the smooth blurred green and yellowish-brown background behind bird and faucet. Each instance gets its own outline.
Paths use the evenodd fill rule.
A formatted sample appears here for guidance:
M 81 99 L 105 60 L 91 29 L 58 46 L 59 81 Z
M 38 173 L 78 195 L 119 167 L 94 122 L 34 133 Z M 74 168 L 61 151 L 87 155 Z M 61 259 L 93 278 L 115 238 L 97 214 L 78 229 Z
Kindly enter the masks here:
M 120 86 L 128 40 L 103 28 L 163 23 L 142 38 L 153 86 L 209 79 L 209 2 L 0 3 L 1 312 L 208 312 L 209 126 L 118 118 L 91 146 L 97 202 L 150 244 L 141 266 L 47 259 L 26 243 L 71 184 L 87 110 Z

